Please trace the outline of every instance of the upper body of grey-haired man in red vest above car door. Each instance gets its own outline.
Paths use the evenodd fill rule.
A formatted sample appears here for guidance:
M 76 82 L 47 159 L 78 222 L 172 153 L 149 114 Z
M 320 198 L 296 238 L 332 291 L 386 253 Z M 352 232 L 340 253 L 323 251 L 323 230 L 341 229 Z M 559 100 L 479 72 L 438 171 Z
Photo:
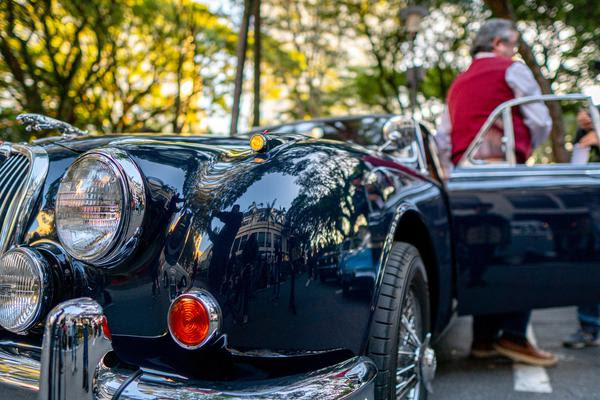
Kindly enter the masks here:
M 513 60 L 519 33 L 511 21 L 494 18 L 482 26 L 473 45 L 473 62 L 448 91 L 447 107 L 436 135 L 443 161 L 456 165 L 492 111 L 507 100 L 541 94 L 531 70 Z M 524 163 L 552 129 L 548 108 L 541 102 L 513 112 L 515 153 Z

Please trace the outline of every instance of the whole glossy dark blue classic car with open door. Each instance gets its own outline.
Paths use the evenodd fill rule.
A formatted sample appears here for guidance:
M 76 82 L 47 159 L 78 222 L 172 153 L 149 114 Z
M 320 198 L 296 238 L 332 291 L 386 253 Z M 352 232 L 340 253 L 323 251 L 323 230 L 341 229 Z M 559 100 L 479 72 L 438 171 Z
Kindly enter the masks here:
M 390 115 L 21 120 L 63 133 L 0 145 L 0 382 L 32 397 L 419 399 L 455 312 L 600 303 L 600 166 L 516 165 L 510 124 L 503 160 L 477 158 L 485 125 L 448 178 Z

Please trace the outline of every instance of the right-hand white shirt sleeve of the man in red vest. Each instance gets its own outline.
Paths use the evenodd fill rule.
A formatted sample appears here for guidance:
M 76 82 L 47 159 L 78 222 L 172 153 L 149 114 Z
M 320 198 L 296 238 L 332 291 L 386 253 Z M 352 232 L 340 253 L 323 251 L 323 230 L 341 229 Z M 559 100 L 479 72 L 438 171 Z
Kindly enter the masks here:
M 513 63 L 506 70 L 506 83 L 513 90 L 515 98 L 542 94 L 531 70 L 521 62 Z M 531 134 L 531 145 L 536 148 L 542 144 L 552 129 L 552 118 L 548 107 L 541 102 L 520 106 L 525 125 Z

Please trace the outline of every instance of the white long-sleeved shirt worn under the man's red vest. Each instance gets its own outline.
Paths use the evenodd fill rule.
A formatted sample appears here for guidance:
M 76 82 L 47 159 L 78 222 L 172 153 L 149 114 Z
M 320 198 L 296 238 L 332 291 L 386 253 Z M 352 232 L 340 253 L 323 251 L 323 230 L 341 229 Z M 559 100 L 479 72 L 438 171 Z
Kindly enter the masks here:
M 481 52 L 475 55 L 475 59 L 487 57 L 496 57 L 496 55 L 488 52 Z M 504 79 L 514 92 L 515 98 L 535 96 L 542 93 L 533 73 L 522 62 L 516 61 L 508 67 Z M 552 130 L 552 119 L 550 118 L 548 107 L 546 107 L 543 102 L 539 101 L 521 105 L 519 108 L 523 115 L 523 122 L 527 128 L 529 128 L 531 146 L 532 148 L 536 148 L 546 140 Z M 452 169 L 451 132 L 452 122 L 450 121 L 450 113 L 446 106 L 444 113 L 442 114 L 442 122 L 435 135 L 435 141 L 438 145 L 440 161 L 447 170 Z

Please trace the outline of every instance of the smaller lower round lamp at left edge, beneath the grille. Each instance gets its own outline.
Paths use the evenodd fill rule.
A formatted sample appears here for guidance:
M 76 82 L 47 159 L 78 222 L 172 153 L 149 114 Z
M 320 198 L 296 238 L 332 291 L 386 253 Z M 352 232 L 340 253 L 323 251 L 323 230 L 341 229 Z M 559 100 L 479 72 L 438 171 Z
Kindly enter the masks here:
M 0 325 L 22 333 L 33 326 L 51 290 L 48 264 L 35 250 L 17 247 L 0 257 Z

